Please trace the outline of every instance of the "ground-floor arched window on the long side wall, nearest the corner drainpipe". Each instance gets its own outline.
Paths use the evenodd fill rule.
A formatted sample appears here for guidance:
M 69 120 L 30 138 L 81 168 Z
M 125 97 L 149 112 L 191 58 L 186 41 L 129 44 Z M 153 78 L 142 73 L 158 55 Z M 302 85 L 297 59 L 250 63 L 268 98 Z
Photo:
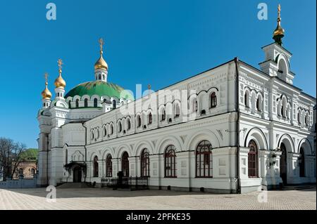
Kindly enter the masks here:
M 212 146 L 208 140 L 202 140 L 196 149 L 196 177 L 213 177 L 213 155 Z

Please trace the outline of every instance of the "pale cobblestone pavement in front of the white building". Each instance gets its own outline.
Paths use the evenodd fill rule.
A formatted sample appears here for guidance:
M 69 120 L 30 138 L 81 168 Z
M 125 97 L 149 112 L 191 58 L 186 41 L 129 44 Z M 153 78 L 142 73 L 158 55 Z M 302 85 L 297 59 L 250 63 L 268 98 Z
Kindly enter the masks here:
M 56 202 L 46 202 L 46 188 L 0 189 L 0 209 L 314 209 L 316 187 L 271 190 L 242 195 L 213 195 L 167 190 L 56 189 Z M 259 194 L 267 202 L 258 202 Z M 265 198 L 261 197 L 260 198 Z M 262 200 L 263 201 L 263 200 Z

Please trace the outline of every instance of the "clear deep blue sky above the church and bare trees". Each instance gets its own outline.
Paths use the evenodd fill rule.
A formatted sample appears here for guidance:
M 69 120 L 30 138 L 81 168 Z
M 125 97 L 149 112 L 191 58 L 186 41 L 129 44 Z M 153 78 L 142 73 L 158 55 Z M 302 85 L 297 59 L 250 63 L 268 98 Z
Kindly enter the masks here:
M 278 3 L 284 46 L 293 53 L 294 85 L 316 97 L 316 1 L 60 1 L 57 20 L 46 20 L 50 1 L 1 2 L 0 136 L 37 147 L 37 110 L 44 72 L 54 93 L 62 58 L 66 91 L 94 79 L 97 40 L 106 42 L 108 81 L 135 91 L 154 90 L 239 57 L 255 67 L 261 46 L 273 42 Z M 258 4 L 268 20 L 258 20 Z

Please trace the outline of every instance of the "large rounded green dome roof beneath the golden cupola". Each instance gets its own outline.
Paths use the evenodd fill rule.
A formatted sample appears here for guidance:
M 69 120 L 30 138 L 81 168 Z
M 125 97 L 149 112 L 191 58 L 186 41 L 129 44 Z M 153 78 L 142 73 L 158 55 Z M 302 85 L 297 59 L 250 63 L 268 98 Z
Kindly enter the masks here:
M 72 88 L 66 95 L 65 98 L 68 98 L 68 96 L 74 97 L 75 95 L 107 95 L 109 98 L 116 96 L 118 99 L 120 99 L 120 92 L 123 91 L 124 88 L 116 85 L 111 84 L 106 81 L 87 81 L 82 84 L 79 84 L 75 86 L 75 88 Z M 133 100 L 133 97 L 130 93 L 125 93 L 125 95 L 122 95 L 121 98 L 125 98 L 125 100 Z

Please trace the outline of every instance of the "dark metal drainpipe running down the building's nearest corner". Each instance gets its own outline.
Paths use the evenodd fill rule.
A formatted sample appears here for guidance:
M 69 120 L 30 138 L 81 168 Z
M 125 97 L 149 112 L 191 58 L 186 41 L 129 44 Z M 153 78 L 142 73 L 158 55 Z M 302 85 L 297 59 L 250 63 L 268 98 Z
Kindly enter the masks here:
M 235 71 L 237 74 L 237 79 L 236 79 L 236 112 L 237 112 L 237 125 L 236 125 L 236 131 L 237 131 L 237 193 L 241 194 L 241 183 L 240 183 L 240 159 L 239 159 L 239 154 L 240 154 L 240 111 L 239 111 L 239 72 L 238 72 L 238 66 L 237 63 L 239 62 L 239 58 L 235 57 Z

